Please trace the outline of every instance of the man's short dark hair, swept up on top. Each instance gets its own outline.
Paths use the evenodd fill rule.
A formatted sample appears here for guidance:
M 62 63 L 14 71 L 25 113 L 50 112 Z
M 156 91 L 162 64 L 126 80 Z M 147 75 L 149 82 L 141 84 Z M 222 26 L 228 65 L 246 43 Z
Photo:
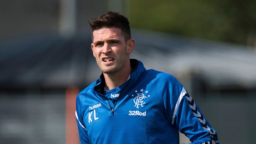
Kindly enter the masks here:
M 120 28 L 124 36 L 125 41 L 131 39 L 131 30 L 128 19 L 119 12 L 108 11 L 101 16 L 89 21 L 89 25 L 92 31 L 102 28 Z

